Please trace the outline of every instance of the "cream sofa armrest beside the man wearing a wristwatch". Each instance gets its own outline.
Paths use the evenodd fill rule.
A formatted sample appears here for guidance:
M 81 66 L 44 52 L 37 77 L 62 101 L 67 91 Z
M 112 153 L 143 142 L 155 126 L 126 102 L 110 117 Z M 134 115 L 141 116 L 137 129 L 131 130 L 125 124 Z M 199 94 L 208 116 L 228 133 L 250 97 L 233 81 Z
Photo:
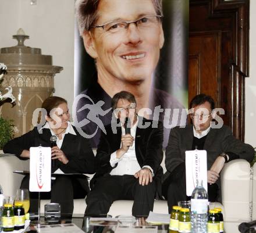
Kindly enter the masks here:
M 250 163 L 236 159 L 225 164 L 221 173 L 222 205 L 225 221 L 251 220 Z

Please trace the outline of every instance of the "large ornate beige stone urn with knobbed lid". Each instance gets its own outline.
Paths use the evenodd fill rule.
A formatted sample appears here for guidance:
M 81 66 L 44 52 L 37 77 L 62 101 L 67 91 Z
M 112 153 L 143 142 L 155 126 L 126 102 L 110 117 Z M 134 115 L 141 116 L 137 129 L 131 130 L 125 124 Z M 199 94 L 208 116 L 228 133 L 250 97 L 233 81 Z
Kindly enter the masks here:
M 16 137 L 33 128 L 33 112 L 41 107 L 42 102 L 54 92 L 54 76 L 63 68 L 52 66 L 52 56 L 42 55 L 40 48 L 24 46 L 29 36 L 19 30 L 13 35 L 18 44 L 1 48 L 0 61 L 8 67 L 8 73 L 2 88 L 12 87 L 16 98 L 15 105 L 5 102 L 0 106 L 0 114 L 13 119 L 17 126 Z

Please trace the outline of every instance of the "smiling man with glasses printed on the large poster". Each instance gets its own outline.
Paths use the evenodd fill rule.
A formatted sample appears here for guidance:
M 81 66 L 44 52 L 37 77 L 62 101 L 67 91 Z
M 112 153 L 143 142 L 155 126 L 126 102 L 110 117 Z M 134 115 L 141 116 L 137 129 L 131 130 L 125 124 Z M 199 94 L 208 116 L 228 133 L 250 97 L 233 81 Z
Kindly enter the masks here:
M 152 110 L 152 114 L 144 112 L 140 116 L 152 119 L 154 108 L 160 105 L 162 109 L 171 109 L 170 123 L 176 114 L 172 127 L 179 125 L 183 105 L 167 92 L 154 88 L 154 72 L 164 42 L 162 0 L 77 0 L 76 12 L 84 47 L 97 68 L 90 85 L 81 93 L 87 96 L 78 102 L 77 120 L 86 123 L 81 127 L 93 135 L 98 126 L 86 121 L 88 109 L 84 106 L 104 101 L 102 109 L 107 110 L 113 95 L 122 90 L 136 97 L 138 110 Z M 163 121 L 165 111 L 159 110 L 158 115 Z M 112 114 L 98 117 L 106 125 L 111 122 Z M 186 114 L 183 120 L 186 122 Z M 91 138 L 93 147 L 97 147 L 99 136 L 97 131 Z M 164 146 L 168 136 L 169 129 L 165 128 Z

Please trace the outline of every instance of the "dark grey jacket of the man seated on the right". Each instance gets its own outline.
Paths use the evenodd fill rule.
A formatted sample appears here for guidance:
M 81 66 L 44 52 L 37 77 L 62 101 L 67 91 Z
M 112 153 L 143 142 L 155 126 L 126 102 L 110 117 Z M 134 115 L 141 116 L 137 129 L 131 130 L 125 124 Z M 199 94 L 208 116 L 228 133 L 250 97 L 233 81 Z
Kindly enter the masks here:
M 192 149 L 193 137 L 193 125 L 186 126 L 185 128 L 175 127 L 170 130 L 169 142 L 165 152 L 167 171 L 163 175 L 163 181 L 169 177 L 170 173 L 177 166 L 185 163 L 185 152 Z M 235 138 L 227 126 L 211 128 L 205 140 L 204 150 L 207 150 L 207 170 L 211 168 L 216 158 L 222 152 L 232 152 L 238 155 L 240 159 L 246 159 L 248 162 L 251 162 L 254 157 L 253 147 Z M 216 184 L 221 188 L 220 178 Z M 219 200 L 221 200 L 220 198 Z

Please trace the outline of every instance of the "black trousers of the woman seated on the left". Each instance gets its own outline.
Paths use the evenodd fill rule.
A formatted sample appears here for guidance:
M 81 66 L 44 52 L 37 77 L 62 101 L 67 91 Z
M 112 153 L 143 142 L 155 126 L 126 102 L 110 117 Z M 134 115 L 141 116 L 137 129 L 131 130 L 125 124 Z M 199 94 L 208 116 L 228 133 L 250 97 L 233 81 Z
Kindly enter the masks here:
M 29 175 L 23 178 L 20 188 L 29 189 Z M 38 192 L 30 192 L 29 194 L 30 213 L 37 213 Z M 73 199 L 85 198 L 86 195 L 86 190 L 76 178 L 58 175 L 55 180 L 52 180 L 51 192 L 41 192 L 40 198 L 51 199 L 51 203 L 61 204 L 61 213 L 72 215 L 74 210 Z

